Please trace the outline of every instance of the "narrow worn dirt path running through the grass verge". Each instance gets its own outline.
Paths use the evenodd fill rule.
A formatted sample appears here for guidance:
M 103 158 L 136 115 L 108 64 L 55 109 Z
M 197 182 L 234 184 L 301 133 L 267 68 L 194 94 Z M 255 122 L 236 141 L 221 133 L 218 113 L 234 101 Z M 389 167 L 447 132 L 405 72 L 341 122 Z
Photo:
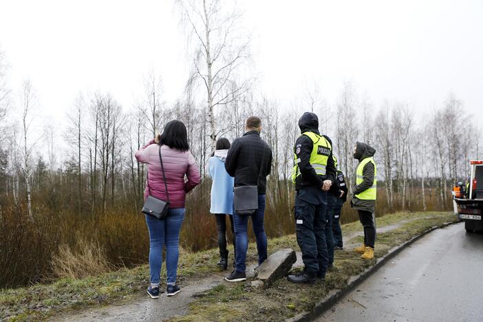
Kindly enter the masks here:
M 421 218 L 416 218 L 421 219 Z M 378 233 L 385 233 L 394 230 L 416 219 L 408 219 L 377 228 Z M 352 247 L 356 242 L 354 239 L 363 235 L 363 231 L 352 233 L 343 237 L 344 247 Z M 247 275 L 253 276 L 256 264 L 250 264 L 247 267 Z M 303 267 L 301 253 L 297 253 L 297 262 L 294 268 Z M 181 285 L 182 292 L 175 297 L 167 297 L 166 292 L 160 294 L 160 298 L 153 300 L 147 295 L 136 302 L 109 305 L 105 308 L 94 308 L 92 310 L 84 310 L 76 314 L 66 314 L 54 318 L 56 321 L 162 321 L 173 316 L 184 315 L 189 310 L 189 303 L 195 299 L 195 294 L 210 290 L 224 281 L 226 272 L 213 272 L 213 275 L 204 278 L 202 281 L 186 281 Z

